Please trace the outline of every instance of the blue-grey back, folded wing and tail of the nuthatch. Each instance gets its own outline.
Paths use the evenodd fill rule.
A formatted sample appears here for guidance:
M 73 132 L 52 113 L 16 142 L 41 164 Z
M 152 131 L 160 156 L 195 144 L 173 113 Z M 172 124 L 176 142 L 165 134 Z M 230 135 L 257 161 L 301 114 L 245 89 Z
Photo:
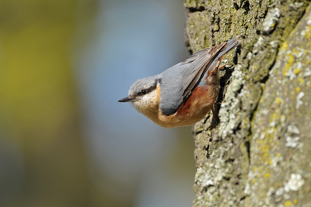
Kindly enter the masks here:
M 160 74 L 165 77 L 160 81 L 160 110 L 163 115 L 172 115 L 183 106 L 204 74 L 213 74 L 215 67 L 218 68 L 219 59 L 241 44 L 238 38 L 236 36 L 228 42 L 204 48 Z

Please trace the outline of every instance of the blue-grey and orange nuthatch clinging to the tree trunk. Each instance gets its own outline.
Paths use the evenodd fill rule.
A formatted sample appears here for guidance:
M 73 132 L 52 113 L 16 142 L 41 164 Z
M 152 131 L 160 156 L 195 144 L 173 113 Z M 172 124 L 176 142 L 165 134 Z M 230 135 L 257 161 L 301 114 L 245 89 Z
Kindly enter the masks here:
M 165 127 L 193 125 L 212 110 L 219 93 L 219 64 L 241 44 L 236 36 L 207 47 L 161 74 L 138 79 L 119 102 L 131 102 L 154 123 Z

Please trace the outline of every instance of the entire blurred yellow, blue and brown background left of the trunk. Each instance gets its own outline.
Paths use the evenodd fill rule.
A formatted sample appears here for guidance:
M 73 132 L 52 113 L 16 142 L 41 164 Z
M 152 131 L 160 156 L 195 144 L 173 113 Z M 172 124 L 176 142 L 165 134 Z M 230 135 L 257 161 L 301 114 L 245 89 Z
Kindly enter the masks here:
M 191 127 L 117 102 L 188 56 L 182 0 L 0 0 L 0 206 L 191 206 Z

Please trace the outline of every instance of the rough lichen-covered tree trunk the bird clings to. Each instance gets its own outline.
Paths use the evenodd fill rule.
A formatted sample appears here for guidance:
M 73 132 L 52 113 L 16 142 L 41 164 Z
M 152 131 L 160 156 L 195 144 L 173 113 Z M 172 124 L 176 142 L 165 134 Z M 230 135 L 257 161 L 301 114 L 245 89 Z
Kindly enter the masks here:
M 184 6 L 191 52 L 243 41 L 237 65 L 221 71 L 220 123 L 207 115 L 193 127 L 193 206 L 311 206 L 310 1 Z

